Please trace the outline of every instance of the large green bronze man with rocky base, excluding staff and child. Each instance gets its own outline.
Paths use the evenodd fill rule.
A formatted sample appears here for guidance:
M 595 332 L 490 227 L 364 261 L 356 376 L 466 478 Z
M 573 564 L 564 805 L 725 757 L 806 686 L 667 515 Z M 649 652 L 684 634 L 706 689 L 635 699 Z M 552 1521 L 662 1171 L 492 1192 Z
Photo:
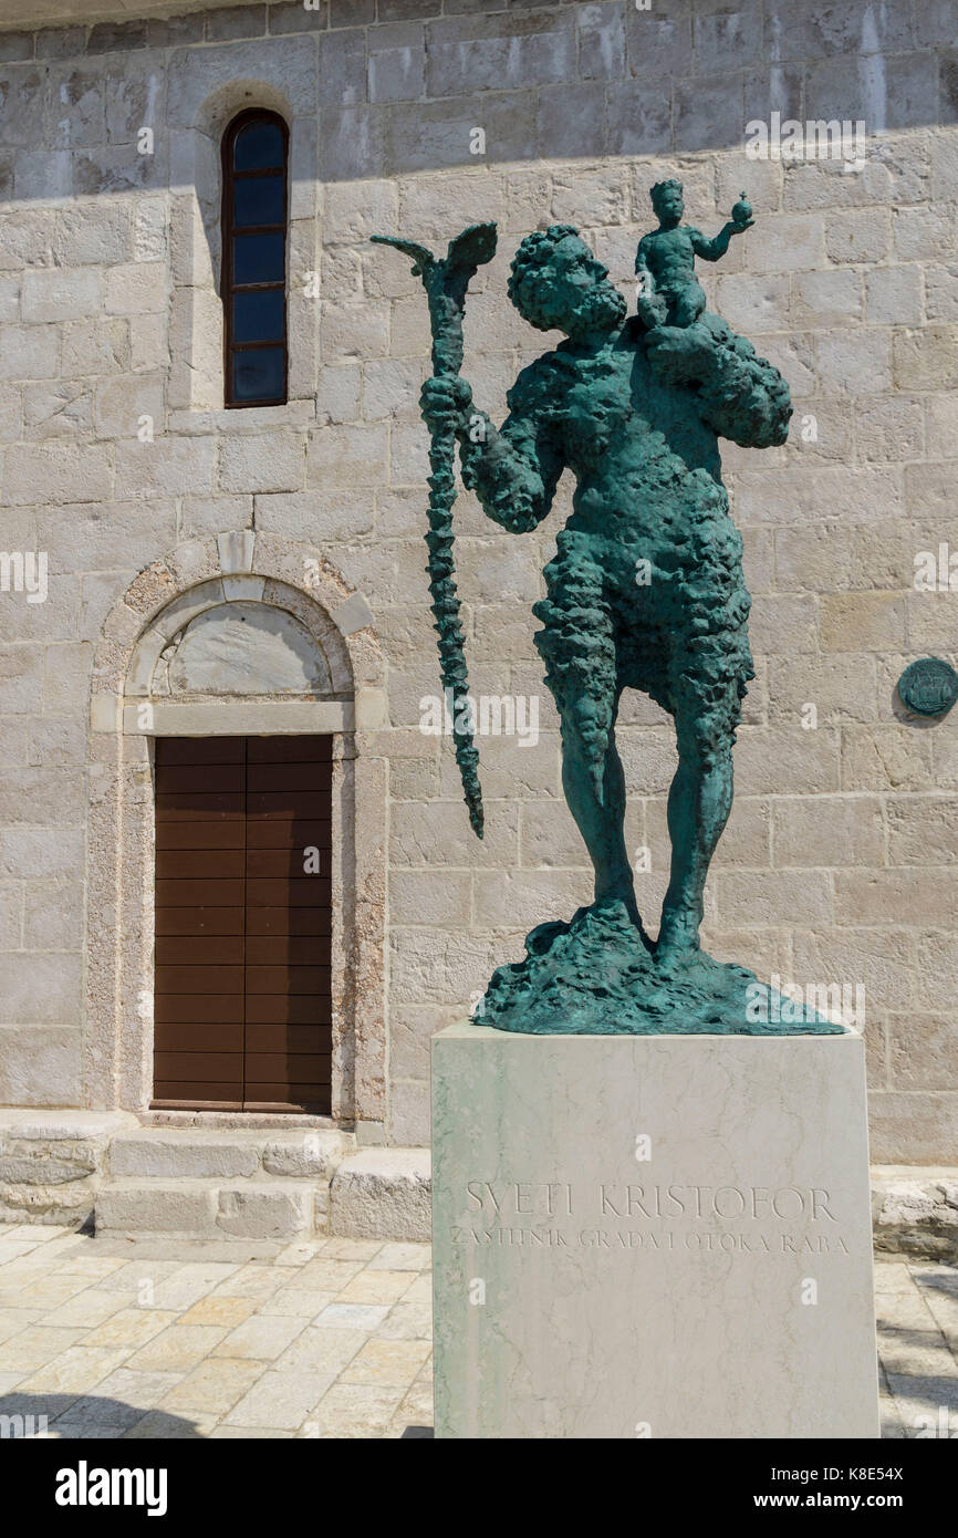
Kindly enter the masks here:
M 420 404 L 434 443 L 455 435 L 464 484 L 511 532 L 535 529 L 563 471 L 575 475 L 574 512 L 534 614 L 560 714 L 563 789 L 595 867 L 595 901 L 570 923 L 534 929 L 526 958 L 494 974 L 477 1018 L 541 1034 L 841 1030 L 810 1010 L 755 1007 L 757 990 L 767 1003 L 764 984 L 712 960 L 698 941 L 753 677 L 741 537 L 718 437 L 784 443 L 787 384 L 694 295 L 684 325 L 626 320 L 607 269 L 569 225 L 523 240 L 509 297 L 529 325 L 566 340 L 523 369 L 503 426 L 477 409 L 458 372 L 437 371 Z M 438 615 L 437 629 L 441 637 Z M 672 866 L 655 941 L 624 838 L 615 746 L 623 689 L 649 694 L 677 731 Z M 769 1027 L 769 1018 L 789 1024 Z

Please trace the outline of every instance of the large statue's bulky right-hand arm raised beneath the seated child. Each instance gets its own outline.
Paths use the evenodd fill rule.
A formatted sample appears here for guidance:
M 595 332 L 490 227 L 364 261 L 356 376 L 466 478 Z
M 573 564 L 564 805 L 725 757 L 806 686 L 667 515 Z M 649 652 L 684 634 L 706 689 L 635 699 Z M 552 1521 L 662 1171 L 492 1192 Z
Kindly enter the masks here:
M 701 417 L 723 438 L 744 449 L 769 449 L 789 435 L 792 400 L 777 368 L 718 317 L 707 325 L 649 332 L 646 351 L 658 377 L 689 384 Z

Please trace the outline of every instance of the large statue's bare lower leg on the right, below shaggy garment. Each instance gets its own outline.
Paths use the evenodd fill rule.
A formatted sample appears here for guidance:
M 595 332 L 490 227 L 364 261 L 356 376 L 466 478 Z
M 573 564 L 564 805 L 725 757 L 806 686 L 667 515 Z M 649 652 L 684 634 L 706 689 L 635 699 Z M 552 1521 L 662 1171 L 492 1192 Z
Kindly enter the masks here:
M 672 867 L 658 932 L 660 963 L 698 950 L 706 877 L 732 811 L 732 732 L 703 746 L 680 717 L 677 727 L 678 769 L 669 789 Z

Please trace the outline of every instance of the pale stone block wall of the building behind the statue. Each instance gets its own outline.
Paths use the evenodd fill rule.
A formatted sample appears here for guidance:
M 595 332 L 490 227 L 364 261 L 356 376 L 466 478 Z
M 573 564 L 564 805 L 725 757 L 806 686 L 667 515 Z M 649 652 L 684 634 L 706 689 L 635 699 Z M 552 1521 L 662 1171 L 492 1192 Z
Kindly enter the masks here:
M 0 31 L 0 549 L 49 558 L 45 603 L 0 592 L 0 1104 L 85 1103 L 105 617 L 177 543 L 255 529 L 360 588 L 386 654 L 386 1137 L 427 1138 L 431 1034 L 527 927 L 590 895 L 532 644 L 569 488 L 534 535 L 457 504 L 474 694 L 538 707 L 535 741 L 480 741 L 480 844 L 447 741 L 420 731 L 438 689 L 415 406 L 427 320 L 407 263 L 368 235 L 440 245 L 498 220 L 464 361 L 498 415 L 554 340 L 507 303 L 518 240 L 578 225 L 632 306 L 647 188 L 675 174 L 707 232 L 747 191 L 757 225 L 704 274 L 709 303 L 795 400 L 784 448 L 724 452 L 758 678 L 704 938 L 763 977 L 863 987 L 873 1157 L 953 1160 L 956 721 L 907 718 L 895 684 L 918 655 L 958 661 L 956 9 L 331 0 Z M 258 100 L 294 131 L 294 386 L 284 408 L 225 412 L 212 135 L 223 103 Z M 772 111 L 864 120 L 864 166 L 749 160 L 746 125 Z M 935 591 L 915 588 L 920 552 Z M 672 731 L 641 697 L 623 723 L 654 923 Z

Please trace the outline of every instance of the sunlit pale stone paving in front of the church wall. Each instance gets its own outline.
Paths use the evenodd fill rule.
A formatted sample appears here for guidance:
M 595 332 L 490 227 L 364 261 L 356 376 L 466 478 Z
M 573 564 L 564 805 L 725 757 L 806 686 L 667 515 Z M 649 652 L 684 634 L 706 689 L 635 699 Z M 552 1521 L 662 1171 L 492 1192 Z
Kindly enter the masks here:
M 884 1435 L 958 1432 L 958 1270 L 880 1260 L 877 1309 Z M 429 1353 L 426 1244 L 0 1229 L 0 1413 L 51 1436 L 423 1435 Z

